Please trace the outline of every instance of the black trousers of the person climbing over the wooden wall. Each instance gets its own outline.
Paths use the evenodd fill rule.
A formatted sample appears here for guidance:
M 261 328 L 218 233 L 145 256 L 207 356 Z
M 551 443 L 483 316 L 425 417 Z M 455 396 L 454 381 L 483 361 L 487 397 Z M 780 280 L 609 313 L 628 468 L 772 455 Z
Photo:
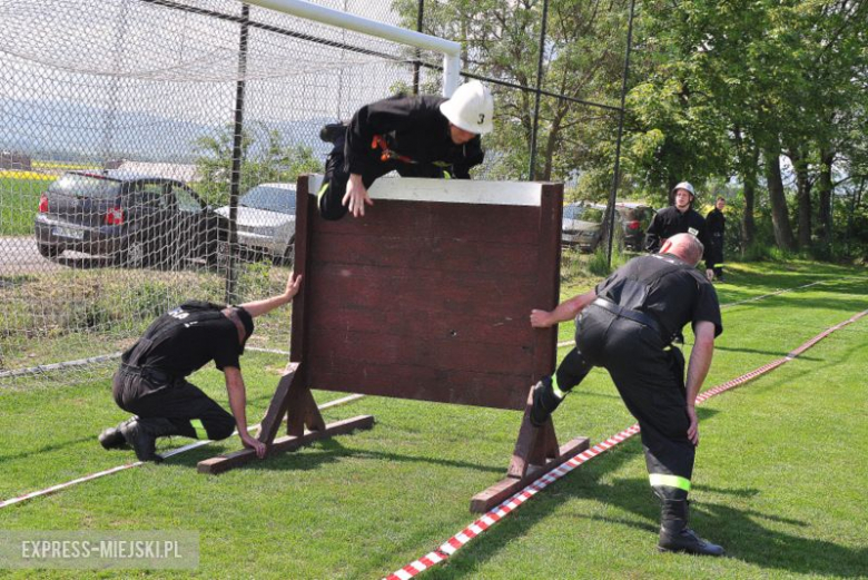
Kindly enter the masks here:
M 342 135 L 335 140 L 335 147 L 326 159 L 323 186 L 317 193 L 319 215 L 325 219 L 341 219 L 347 213 L 347 207 L 342 204 L 344 196 L 346 195 L 346 184 L 349 180 L 349 171 L 345 167 L 345 135 Z M 378 155 L 378 153 L 372 153 L 372 155 Z M 411 164 L 397 159 L 388 159 L 386 161 L 379 161 L 377 165 L 369 165 L 362 174 L 362 183 L 365 184 L 365 188 L 368 188 L 378 178 L 392 171 L 397 171 L 401 177 L 444 177 L 444 171 L 433 165 Z

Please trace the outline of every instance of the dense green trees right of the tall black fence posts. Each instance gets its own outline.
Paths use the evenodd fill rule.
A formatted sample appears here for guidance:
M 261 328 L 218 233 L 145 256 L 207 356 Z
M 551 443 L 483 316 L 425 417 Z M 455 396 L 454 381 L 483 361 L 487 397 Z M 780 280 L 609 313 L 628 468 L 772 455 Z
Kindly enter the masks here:
M 640 36 L 652 55 L 638 59 L 645 80 L 631 94 L 639 129 L 634 161 L 648 168 L 649 181 L 662 180 L 673 167 L 736 176 L 752 204 L 762 159 L 776 240 L 791 248 L 776 159 L 786 154 L 797 184 L 799 239 L 809 246 L 815 207 L 820 223 L 828 219 L 830 180 L 818 174 L 834 163 L 839 119 L 865 95 L 864 82 L 854 79 L 865 78 L 866 3 L 684 0 L 647 8 Z M 708 127 L 711 138 L 697 138 L 685 127 Z M 819 204 L 816 183 L 826 196 Z M 744 212 L 742 230 L 752 237 L 751 210 Z

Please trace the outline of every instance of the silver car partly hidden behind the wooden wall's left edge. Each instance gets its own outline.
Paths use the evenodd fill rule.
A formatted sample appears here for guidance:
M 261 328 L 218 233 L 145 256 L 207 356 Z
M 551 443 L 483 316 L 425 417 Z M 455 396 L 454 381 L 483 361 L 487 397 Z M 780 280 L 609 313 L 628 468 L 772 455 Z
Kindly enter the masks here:
M 295 185 L 260 184 L 238 198 L 237 232 L 243 249 L 278 263 L 293 260 Z M 228 219 L 229 206 L 217 213 Z

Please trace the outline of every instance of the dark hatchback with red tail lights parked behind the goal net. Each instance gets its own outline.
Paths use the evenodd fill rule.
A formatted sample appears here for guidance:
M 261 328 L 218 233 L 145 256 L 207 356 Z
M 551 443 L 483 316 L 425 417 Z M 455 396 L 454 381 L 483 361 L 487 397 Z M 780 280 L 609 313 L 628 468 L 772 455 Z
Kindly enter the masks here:
M 68 171 L 39 200 L 36 238 L 47 258 L 70 249 L 130 267 L 216 262 L 228 222 L 176 179 L 127 171 Z

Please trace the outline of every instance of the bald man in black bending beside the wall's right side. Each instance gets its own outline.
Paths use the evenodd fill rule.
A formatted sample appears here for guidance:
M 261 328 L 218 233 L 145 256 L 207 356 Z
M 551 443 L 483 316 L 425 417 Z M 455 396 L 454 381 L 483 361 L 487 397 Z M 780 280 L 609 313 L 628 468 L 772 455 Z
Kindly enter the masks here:
M 651 488 L 662 501 L 661 551 L 722 556 L 688 528 L 688 492 L 699 421 L 696 399 L 708 374 L 714 337 L 722 331 L 714 287 L 696 265 L 702 244 L 677 234 L 660 254 L 640 256 L 595 289 L 551 312 L 533 311 L 531 324 L 549 327 L 578 315 L 575 348 L 534 387 L 531 422 L 540 426 L 593 366 L 609 371 L 628 410 L 639 421 Z M 696 343 L 684 384 L 684 358 L 672 345 L 687 323 Z

